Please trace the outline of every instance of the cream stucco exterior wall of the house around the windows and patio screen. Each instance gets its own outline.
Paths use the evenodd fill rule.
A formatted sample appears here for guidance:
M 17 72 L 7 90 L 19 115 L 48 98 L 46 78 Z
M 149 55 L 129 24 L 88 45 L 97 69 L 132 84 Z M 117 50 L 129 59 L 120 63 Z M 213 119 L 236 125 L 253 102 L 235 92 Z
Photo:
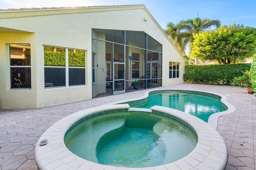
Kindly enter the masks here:
M 39 108 L 91 99 L 92 28 L 146 32 L 162 44 L 162 86 L 183 83 L 184 59 L 144 6 L 2 11 L 0 108 Z M 31 45 L 31 90 L 10 90 L 8 44 L 12 43 Z M 43 45 L 85 50 L 86 86 L 44 89 Z M 169 61 L 181 63 L 180 78 L 169 79 Z

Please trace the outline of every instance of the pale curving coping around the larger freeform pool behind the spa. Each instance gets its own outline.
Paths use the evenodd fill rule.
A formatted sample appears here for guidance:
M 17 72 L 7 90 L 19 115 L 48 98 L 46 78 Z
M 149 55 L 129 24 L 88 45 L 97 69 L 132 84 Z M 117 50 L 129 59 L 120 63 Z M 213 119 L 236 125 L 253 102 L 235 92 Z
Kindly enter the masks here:
M 134 99 L 129 99 L 129 100 L 122 100 L 120 102 L 112 102 L 110 104 L 106 104 L 106 105 L 112 105 L 112 104 L 120 104 L 120 103 L 125 103 L 125 102 L 133 102 L 133 101 L 136 101 L 136 100 L 142 100 L 142 99 L 145 99 L 149 96 L 149 93 L 150 92 L 154 92 L 154 91 L 162 91 L 162 90 L 183 90 L 183 91 L 193 91 L 193 92 L 202 92 L 202 93 L 209 93 L 209 94 L 214 94 L 216 96 L 220 96 L 220 101 L 228 107 L 227 110 L 225 111 L 221 111 L 221 112 L 217 112 L 217 113 L 214 113 L 212 115 L 210 115 L 210 117 L 208 118 L 208 124 L 210 124 L 214 129 L 217 129 L 218 127 L 218 118 L 222 115 L 226 115 L 226 114 L 229 114 L 229 113 L 233 113 L 234 111 L 236 111 L 236 107 L 234 107 L 232 104 L 230 104 L 228 101 L 227 101 L 227 97 L 222 95 L 222 94 L 218 94 L 218 93 L 213 93 L 213 92 L 207 92 L 207 91 L 202 91 L 202 90 L 190 90 L 190 89 L 177 89 L 177 88 L 174 88 L 174 89 L 170 89 L 170 88 L 162 88 L 162 89 L 159 89 L 159 90 L 148 90 L 145 92 L 144 96 L 140 97 L 140 98 L 134 98 Z

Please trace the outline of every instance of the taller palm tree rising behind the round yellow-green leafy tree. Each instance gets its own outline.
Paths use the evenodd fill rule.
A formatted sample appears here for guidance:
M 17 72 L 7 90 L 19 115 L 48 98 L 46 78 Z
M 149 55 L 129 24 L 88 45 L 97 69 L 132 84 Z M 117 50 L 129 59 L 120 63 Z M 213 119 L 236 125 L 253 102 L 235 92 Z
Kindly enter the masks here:
M 206 31 L 210 29 L 212 26 L 216 28 L 220 27 L 220 20 L 210 20 L 210 19 L 201 19 L 196 17 L 194 19 L 182 20 L 180 24 L 182 24 L 182 30 L 184 36 L 186 35 L 186 45 L 188 43 L 192 43 L 194 41 L 193 34 L 198 34 L 200 31 Z M 195 64 L 198 64 L 197 58 L 195 60 Z

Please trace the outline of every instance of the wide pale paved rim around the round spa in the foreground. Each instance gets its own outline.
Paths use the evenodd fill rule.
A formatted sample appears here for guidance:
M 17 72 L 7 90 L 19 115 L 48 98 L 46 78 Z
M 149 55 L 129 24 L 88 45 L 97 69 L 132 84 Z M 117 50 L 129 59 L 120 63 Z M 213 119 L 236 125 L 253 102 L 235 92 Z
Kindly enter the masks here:
M 96 164 L 82 159 L 66 148 L 64 136 L 68 129 L 83 117 L 102 113 L 102 111 L 129 109 L 128 104 L 106 105 L 78 111 L 64 117 L 49 127 L 40 137 L 35 147 L 35 160 L 39 169 L 109 169 L 109 170 L 162 170 L 162 169 L 220 169 L 226 167 L 228 149 L 221 135 L 208 123 L 188 113 L 162 106 L 150 109 L 154 114 L 173 115 L 188 123 L 198 136 L 195 149 L 184 158 L 170 164 L 148 168 L 124 168 Z M 134 110 L 135 111 L 135 110 Z M 40 146 L 40 141 L 47 139 L 48 144 Z

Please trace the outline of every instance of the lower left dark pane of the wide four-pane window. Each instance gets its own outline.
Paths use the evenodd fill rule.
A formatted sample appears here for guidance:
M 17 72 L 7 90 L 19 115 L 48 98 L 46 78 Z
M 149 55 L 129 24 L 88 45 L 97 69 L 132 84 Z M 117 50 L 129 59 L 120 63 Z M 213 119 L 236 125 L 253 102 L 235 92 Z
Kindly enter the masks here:
M 44 68 L 44 87 L 66 86 L 65 68 Z

